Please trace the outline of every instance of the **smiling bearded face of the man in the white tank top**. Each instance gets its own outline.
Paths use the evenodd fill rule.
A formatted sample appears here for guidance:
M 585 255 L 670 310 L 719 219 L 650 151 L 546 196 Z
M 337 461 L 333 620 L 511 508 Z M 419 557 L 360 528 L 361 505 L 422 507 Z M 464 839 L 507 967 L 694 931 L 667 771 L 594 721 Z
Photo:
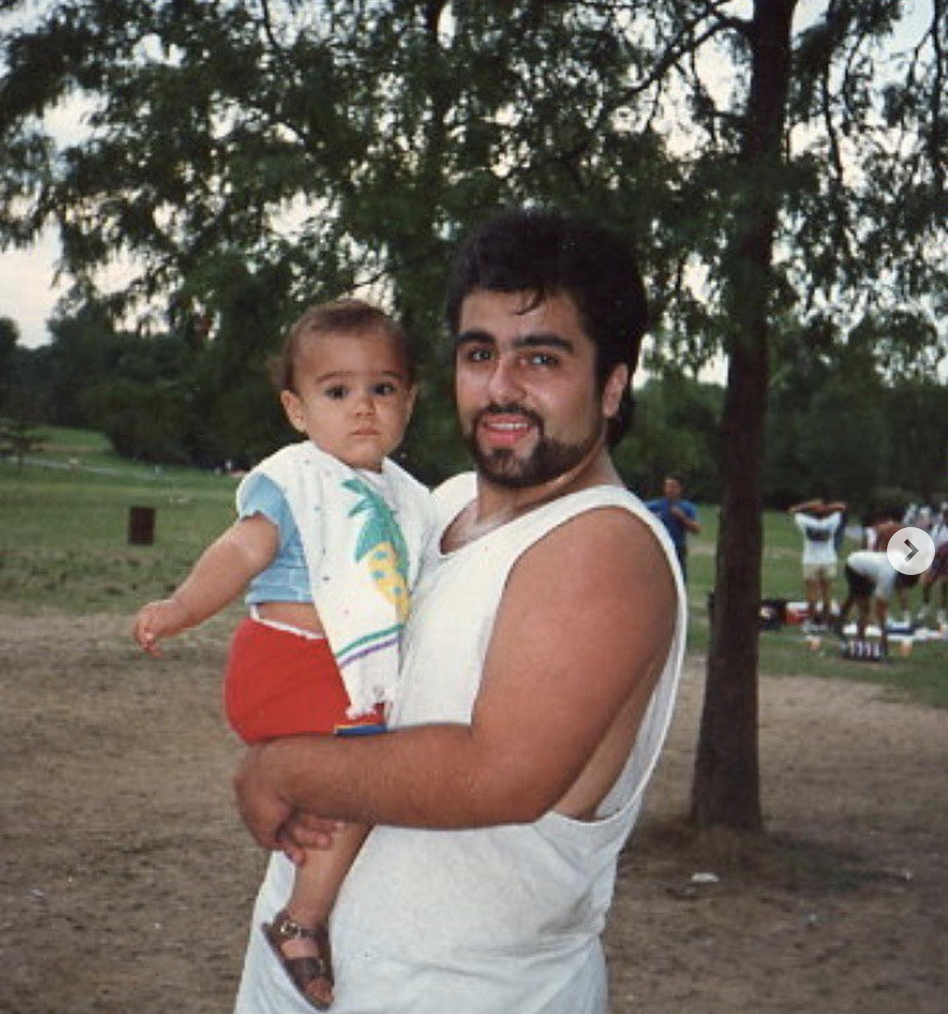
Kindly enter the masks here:
M 573 300 L 476 289 L 463 301 L 455 353 L 461 432 L 478 470 L 510 489 L 539 486 L 604 440 L 625 367 L 600 392 L 595 347 Z

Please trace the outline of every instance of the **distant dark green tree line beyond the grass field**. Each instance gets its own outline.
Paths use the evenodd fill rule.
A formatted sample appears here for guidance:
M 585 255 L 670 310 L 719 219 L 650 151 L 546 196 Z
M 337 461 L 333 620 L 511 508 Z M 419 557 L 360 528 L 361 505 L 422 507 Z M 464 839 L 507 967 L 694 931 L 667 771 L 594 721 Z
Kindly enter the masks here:
M 230 325 L 259 330 L 248 361 L 225 355 L 226 343 L 200 320 L 143 339 L 87 309 L 53 320 L 50 345 L 23 349 L 13 321 L 0 319 L 0 416 L 99 430 L 120 454 L 154 463 L 249 465 L 293 434 L 265 369 L 279 328 L 262 310 L 247 311 L 235 309 Z M 769 506 L 819 491 L 859 510 L 948 499 L 948 386 L 918 360 L 887 375 L 891 345 L 866 328 L 846 341 L 819 328 L 783 336 L 770 394 Z M 435 483 L 464 457 L 444 396 L 445 364 L 430 363 L 424 383 L 424 426 L 404 453 Z M 718 502 L 723 401 L 717 383 L 667 368 L 650 376 L 636 391 L 635 425 L 617 453 L 629 485 L 649 496 L 676 473 L 689 496 Z

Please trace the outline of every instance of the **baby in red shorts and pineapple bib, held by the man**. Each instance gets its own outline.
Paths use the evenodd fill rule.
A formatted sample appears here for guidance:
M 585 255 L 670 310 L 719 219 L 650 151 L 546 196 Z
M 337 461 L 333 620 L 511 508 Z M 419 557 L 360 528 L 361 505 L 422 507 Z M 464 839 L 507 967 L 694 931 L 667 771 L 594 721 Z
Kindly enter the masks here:
M 243 740 L 381 731 L 431 518 L 428 491 L 387 459 L 415 401 L 407 339 L 367 303 L 312 306 L 290 329 L 275 374 L 287 419 L 308 439 L 242 480 L 238 519 L 170 598 L 141 609 L 135 638 L 158 654 L 160 640 L 249 585 L 224 687 Z M 320 1010 L 333 999 L 329 914 L 365 832 L 350 823 L 332 849 L 308 852 L 263 926 Z

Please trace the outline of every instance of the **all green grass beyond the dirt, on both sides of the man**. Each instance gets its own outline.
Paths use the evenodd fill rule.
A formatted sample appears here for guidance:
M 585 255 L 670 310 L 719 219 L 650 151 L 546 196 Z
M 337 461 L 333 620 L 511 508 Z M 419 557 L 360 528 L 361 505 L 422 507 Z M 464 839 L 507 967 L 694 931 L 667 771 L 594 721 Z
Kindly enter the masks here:
M 21 472 L 14 461 L 0 460 L 0 610 L 7 615 L 44 610 L 131 615 L 170 590 L 232 517 L 232 478 L 135 464 L 115 455 L 97 434 L 50 427 L 44 432 L 43 452 Z M 155 509 L 151 546 L 129 545 L 133 506 Z M 704 653 L 717 509 L 700 510 L 703 531 L 691 538 L 688 558 L 689 644 Z M 844 553 L 855 548 L 850 541 Z M 763 595 L 802 596 L 800 535 L 783 514 L 764 516 Z M 915 609 L 918 589 L 909 601 Z M 907 659 L 868 664 L 841 659 L 831 638 L 811 651 L 799 628 L 787 626 L 761 635 L 760 667 L 776 674 L 878 681 L 948 707 L 946 641 L 918 644 Z

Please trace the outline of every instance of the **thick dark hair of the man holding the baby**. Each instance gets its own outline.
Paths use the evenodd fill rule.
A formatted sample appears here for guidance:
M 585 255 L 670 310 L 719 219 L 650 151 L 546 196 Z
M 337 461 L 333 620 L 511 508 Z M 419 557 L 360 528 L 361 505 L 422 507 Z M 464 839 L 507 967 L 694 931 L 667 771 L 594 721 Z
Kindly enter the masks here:
M 473 232 L 456 255 L 445 301 L 452 335 L 457 334 L 461 303 L 475 289 L 530 292 L 535 303 L 558 293 L 568 295 L 596 347 L 600 391 L 619 363 L 629 367 L 632 379 L 648 307 L 639 266 L 624 236 L 558 211 L 501 212 Z M 629 429 L 632 407 L 627 386 L 609 421 L 609 446 Z

